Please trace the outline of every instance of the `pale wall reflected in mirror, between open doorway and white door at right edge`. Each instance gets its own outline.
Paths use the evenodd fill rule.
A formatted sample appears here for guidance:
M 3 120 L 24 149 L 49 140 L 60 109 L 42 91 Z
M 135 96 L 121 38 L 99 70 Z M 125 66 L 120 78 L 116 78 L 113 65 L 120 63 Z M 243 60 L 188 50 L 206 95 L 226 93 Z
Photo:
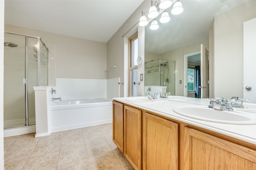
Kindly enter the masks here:
M 255 7 L 250 0 L 214 18 L 214 96 L 243 96 L 243 23 Z

